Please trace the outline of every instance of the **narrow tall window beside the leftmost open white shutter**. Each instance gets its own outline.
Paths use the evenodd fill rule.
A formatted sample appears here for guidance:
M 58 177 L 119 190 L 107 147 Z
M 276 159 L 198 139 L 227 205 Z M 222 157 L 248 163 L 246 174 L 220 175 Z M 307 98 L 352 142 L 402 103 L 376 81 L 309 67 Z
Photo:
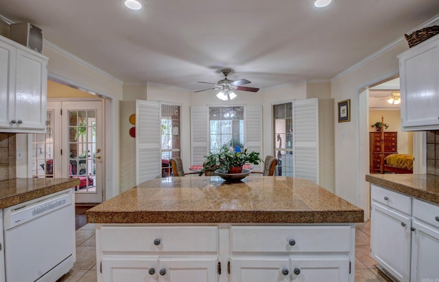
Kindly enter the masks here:
M 169 176 L 169 159 L 180 157 L 180 106 L 161 104 L 162 177 Z

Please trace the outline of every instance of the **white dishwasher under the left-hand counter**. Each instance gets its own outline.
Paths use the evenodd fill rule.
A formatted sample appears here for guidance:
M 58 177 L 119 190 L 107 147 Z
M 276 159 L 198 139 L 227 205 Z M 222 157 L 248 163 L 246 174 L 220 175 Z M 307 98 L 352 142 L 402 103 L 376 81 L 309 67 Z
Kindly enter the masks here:
M 73 268 L 73 188 L 3 209 L 6 281 L 54 282 Z

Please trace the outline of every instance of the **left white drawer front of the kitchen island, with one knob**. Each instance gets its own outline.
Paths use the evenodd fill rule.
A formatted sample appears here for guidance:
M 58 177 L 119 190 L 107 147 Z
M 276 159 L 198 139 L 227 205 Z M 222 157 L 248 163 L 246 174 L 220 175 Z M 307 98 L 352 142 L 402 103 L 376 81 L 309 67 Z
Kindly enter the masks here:
M 102 251 L 217 252 L 217 227 L 111 227 L 97 230 Z

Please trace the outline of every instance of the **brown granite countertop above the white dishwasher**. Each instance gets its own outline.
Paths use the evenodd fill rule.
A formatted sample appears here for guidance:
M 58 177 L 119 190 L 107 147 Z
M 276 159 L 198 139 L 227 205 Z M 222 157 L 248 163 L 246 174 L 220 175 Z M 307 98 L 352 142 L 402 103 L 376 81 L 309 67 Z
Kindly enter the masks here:
M 0 209 L 79 185 L 75 178 L 16 178 L 0 181 Z

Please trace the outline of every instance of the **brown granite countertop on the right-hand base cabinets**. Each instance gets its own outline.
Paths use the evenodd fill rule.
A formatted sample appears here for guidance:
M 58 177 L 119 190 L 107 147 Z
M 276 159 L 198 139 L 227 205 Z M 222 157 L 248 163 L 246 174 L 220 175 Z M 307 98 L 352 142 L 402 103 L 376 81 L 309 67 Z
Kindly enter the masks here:
M 366 175 L 366 181 L 439 205 L 438 175 Z

